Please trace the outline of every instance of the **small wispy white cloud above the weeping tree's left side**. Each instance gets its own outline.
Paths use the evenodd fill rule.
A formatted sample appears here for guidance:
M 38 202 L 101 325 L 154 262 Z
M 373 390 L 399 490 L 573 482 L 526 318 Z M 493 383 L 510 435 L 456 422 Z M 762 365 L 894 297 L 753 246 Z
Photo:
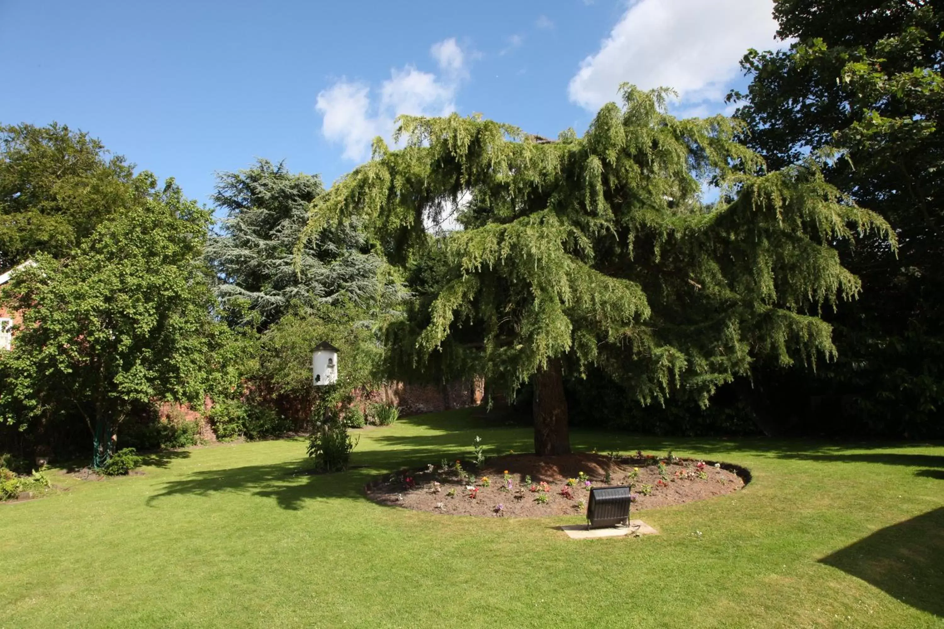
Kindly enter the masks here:
M 366 83 L 345 78 L 319 92 L 314 107 L 322 115 L 325 138 L 344 144 L 346 159 L 360 161 L 369 156 L 374 138 L 389 140 L 396 116 L 445 116 L 455 111 L 456 92 L 468 76 L 466 55 L 453 38 L 434 43 L 430 55 L 440 75 L 412 65 L 394 68 L 376 91 L 379 99 L 372 99 Z

